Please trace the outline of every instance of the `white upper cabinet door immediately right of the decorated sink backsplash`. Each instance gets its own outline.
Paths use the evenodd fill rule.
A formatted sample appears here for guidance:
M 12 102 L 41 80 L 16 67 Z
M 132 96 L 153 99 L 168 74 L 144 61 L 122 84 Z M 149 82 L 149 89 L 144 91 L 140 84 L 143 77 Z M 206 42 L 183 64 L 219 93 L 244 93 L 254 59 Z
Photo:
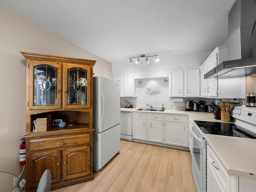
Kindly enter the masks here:
M 183 70 L 170 71 L 169 97 L 183 96 Z

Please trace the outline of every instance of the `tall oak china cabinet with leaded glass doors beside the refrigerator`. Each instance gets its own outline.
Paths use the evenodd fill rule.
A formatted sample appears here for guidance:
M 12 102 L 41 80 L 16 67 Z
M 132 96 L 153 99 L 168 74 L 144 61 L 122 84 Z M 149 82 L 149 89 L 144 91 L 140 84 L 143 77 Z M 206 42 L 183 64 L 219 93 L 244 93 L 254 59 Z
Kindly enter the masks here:
M 27 59 L 26 189 L 35 191 L 46 169 L 51 171 L 51 190 L 93 180 L 96 61 L 21 53 Z M 39 118 L 49 122 L 46 130 L 30 133 Z M 67 126 L 60 128 L 60 120 Z

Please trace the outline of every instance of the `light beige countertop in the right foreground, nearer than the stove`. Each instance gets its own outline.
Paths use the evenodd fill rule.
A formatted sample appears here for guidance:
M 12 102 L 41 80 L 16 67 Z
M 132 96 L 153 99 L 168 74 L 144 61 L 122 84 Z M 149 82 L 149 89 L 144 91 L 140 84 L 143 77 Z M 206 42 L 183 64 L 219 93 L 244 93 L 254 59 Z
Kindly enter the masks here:
M 256 139 L 204 135 L 228 175 L 256 180 Z

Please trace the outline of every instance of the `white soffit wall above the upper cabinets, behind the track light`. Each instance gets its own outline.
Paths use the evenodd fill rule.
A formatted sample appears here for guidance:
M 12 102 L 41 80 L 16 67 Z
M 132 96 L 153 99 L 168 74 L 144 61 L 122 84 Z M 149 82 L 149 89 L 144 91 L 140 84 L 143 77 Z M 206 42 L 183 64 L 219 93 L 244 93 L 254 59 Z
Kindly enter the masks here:
M 160 61 L 151 59 L 146 63 L 143 58 L 139 63 L 130 65 L 129 59 L 122 62 L 112 63 L 113 74 L 151 72 L 160 70 L 184 69 L 186 67 L 200 66 L 210 55 L 211 52 L 194 53 L 186 55 L 160 55 Z

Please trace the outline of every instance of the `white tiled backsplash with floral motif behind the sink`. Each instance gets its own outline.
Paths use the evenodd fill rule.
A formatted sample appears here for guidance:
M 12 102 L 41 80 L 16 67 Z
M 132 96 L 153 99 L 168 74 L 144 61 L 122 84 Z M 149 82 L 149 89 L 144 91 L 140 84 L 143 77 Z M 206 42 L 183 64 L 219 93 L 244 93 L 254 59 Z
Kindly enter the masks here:
M 121 97 L 120 104 L 124 105 L 123 100 L 135 104 L 135 106 L 146 106 L 147 103 L 153 106 L 173 106 L 185 107 L 187 99 L 198 102 L 199 100 L 206 101 L 209 104 L 211 101 L 215 102 L 216 99 L 208 98 L 183 98 L 183 102 L 172 101 L 168 97 L 168 78 L 151 78 L 151 79 L 138 79 L 138 97 Z

